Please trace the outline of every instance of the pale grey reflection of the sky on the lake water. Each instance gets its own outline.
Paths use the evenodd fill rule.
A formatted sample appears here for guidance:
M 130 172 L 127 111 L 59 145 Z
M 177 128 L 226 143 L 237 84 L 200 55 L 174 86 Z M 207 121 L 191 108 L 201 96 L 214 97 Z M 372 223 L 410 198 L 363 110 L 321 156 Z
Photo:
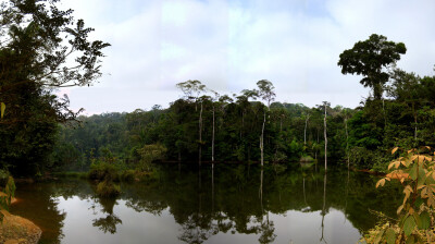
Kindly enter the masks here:
M 175 222 L 169 209 L 161 215 L 146 211 L 137 212 L 125 206 L 125 200 L 117 200 L 113 213 L 122 220 L 116 225 L 116 233 L 100 231 L 92 227 L 92 220 L 104 218 L 101 206 L 94 200 L 79 199 L 74 196 L 69 199 L 58 198 L 58 208 L 66 212 L 62 243 L 178 243 L 181 225 Z M 92 209 L 95 206 L 95 209 Z M 301 212 L 289 210 L 285 215 L 269 213 L 270 222 L 274 223 L 276 239 L 274 243 L 319 243 L 321 239 L 321 211 Z M 251 221 L 254 221 L 251 218 Z M 265 221 L 265 217 L 263 219 Z M 256 225 L 258 223 L 252 223 Z M 249 224 L 251 225 L 251 224 Z M 346 220 L 345 215 L 330 208 L 324 218 L 324 239 L 327 243 L 357 243 L 360 233 Z M 258 243 L 260 234 L 239 234 L 220 232 L 204 243 Z

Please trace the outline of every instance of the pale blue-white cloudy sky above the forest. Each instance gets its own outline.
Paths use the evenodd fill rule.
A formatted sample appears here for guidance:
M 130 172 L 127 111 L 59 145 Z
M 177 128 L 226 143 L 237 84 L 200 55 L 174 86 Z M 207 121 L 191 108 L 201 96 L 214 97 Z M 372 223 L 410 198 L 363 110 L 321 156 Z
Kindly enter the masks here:
M 221 95 L 275 86 L 276 100 L 355 108 L 370 93 L 343 75 L 339 54 L 371 34 L 403 42 L 397 66 L 434 75 L 433 0 L 62 0 L 96 30 L 102 77 L 62 88 L 85 114 L 167 108 L 176 84 L 198 80 Z

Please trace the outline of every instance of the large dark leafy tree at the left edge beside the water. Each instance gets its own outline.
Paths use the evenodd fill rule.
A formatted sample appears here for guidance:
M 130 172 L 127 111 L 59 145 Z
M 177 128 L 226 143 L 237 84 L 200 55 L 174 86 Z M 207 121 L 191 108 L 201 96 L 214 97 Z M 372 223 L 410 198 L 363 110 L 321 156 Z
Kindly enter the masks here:
M 53 148 L 58 122 L 76 120 L 69 99 L 52 88 L 90 85 L 101 76 L 101 40 L 75 21 L 59 0 L 10 0 L 0 4 L 1 159 L 13 171 L 35 173 Z M 5 112 L 4 112 L 4 108 Z M 18 139 L 17 139 L 18 138 Z

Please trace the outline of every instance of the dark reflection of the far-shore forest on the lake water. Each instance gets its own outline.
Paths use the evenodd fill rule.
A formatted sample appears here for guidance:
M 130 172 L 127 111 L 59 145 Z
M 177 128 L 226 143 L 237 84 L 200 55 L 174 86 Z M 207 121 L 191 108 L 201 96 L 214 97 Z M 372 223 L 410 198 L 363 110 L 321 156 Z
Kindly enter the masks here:
M 371 197 L 378 191 L 374 188 L 375 182 L 358 172 L 351 172 L 346 179 L 345 171 L 332 170 L 326 182 L 325 175 L 313 169 L 304 169 L 302 173 L 300 169 L 277 173 L 273 168 L 261 170 L 253 166 L 248 174 L 245 166 L 207 167 L 201 167 L 199 176 L 197 168 L 192 170 L 186 166 L 179 172 L 174 164 L 172 170 L 161 171 L 159 181 L 124 185 L 123 197 L 126 205 L 137 211 L 160 215 L 167 210 L 181 227 L 179 240 L 187 243 L 206 242 L 219 232 L 258 234 L 259 241 L 273 242 L 276 230 L 274 223 L 268 221 L 268 215 L 285 215 L 290 209 L 320 211 L 323 230 L 327 209 L 333 206 L 340 210 L 346 206 L 343 197 L 346 180 L 351 185 L 347 217 L 356 228 L 364 230 L 375 223 L 375 219 L 361 216 L 366 208 L 385 206 L 381 208 L 384 210 L 391 205 L 391 202 Z M 322 197 L 323 202 L 319 200 Z

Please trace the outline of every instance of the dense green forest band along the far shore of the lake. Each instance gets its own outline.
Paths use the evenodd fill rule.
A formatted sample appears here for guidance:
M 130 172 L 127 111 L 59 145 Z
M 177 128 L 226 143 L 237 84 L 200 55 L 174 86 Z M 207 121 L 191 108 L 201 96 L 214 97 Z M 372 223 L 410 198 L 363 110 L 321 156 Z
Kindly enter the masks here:
M 138 150 L 150 144 L 167 148 L 165 160 L 260 161 L 264 121 L 266 163 L 323 159 L 323 105 L 308 108 L 271 102 L 268 107 L 256 101 L 261 98 L 260 86 L 232 98 L 207 93 L 198 81 L 178 87 L 189 84 L 190 90 L 183 89 L 186 96 L 167 109 L 154 106 L 149 111 L 80 117 L 78 126 L 62 126 L 49 164 L 86 169 L 97 157 L 134 164 L 140 160 Z M 385 90 L 386 99 L 369 97 L 356 109 L 326 106 L 332 163 L 347 163 L 349 159 L 360 168 L 383 170 L 390 160 L 387 152 L 395 146 L 435 145 L 435 77 L 395 70 Z

